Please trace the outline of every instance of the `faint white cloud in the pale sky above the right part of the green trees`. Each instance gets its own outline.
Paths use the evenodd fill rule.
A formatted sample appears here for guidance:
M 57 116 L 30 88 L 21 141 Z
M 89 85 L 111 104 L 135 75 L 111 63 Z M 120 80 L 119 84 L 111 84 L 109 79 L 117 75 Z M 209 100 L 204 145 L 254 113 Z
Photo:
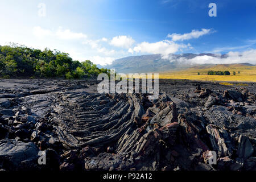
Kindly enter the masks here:
M 64 40 L 73 40 L 73 39 L 86 39 L 87 36 L 82 33 L 72 32 L 71 30 L 63 30 L 61 27 L 56 31 L 56 36 Z

